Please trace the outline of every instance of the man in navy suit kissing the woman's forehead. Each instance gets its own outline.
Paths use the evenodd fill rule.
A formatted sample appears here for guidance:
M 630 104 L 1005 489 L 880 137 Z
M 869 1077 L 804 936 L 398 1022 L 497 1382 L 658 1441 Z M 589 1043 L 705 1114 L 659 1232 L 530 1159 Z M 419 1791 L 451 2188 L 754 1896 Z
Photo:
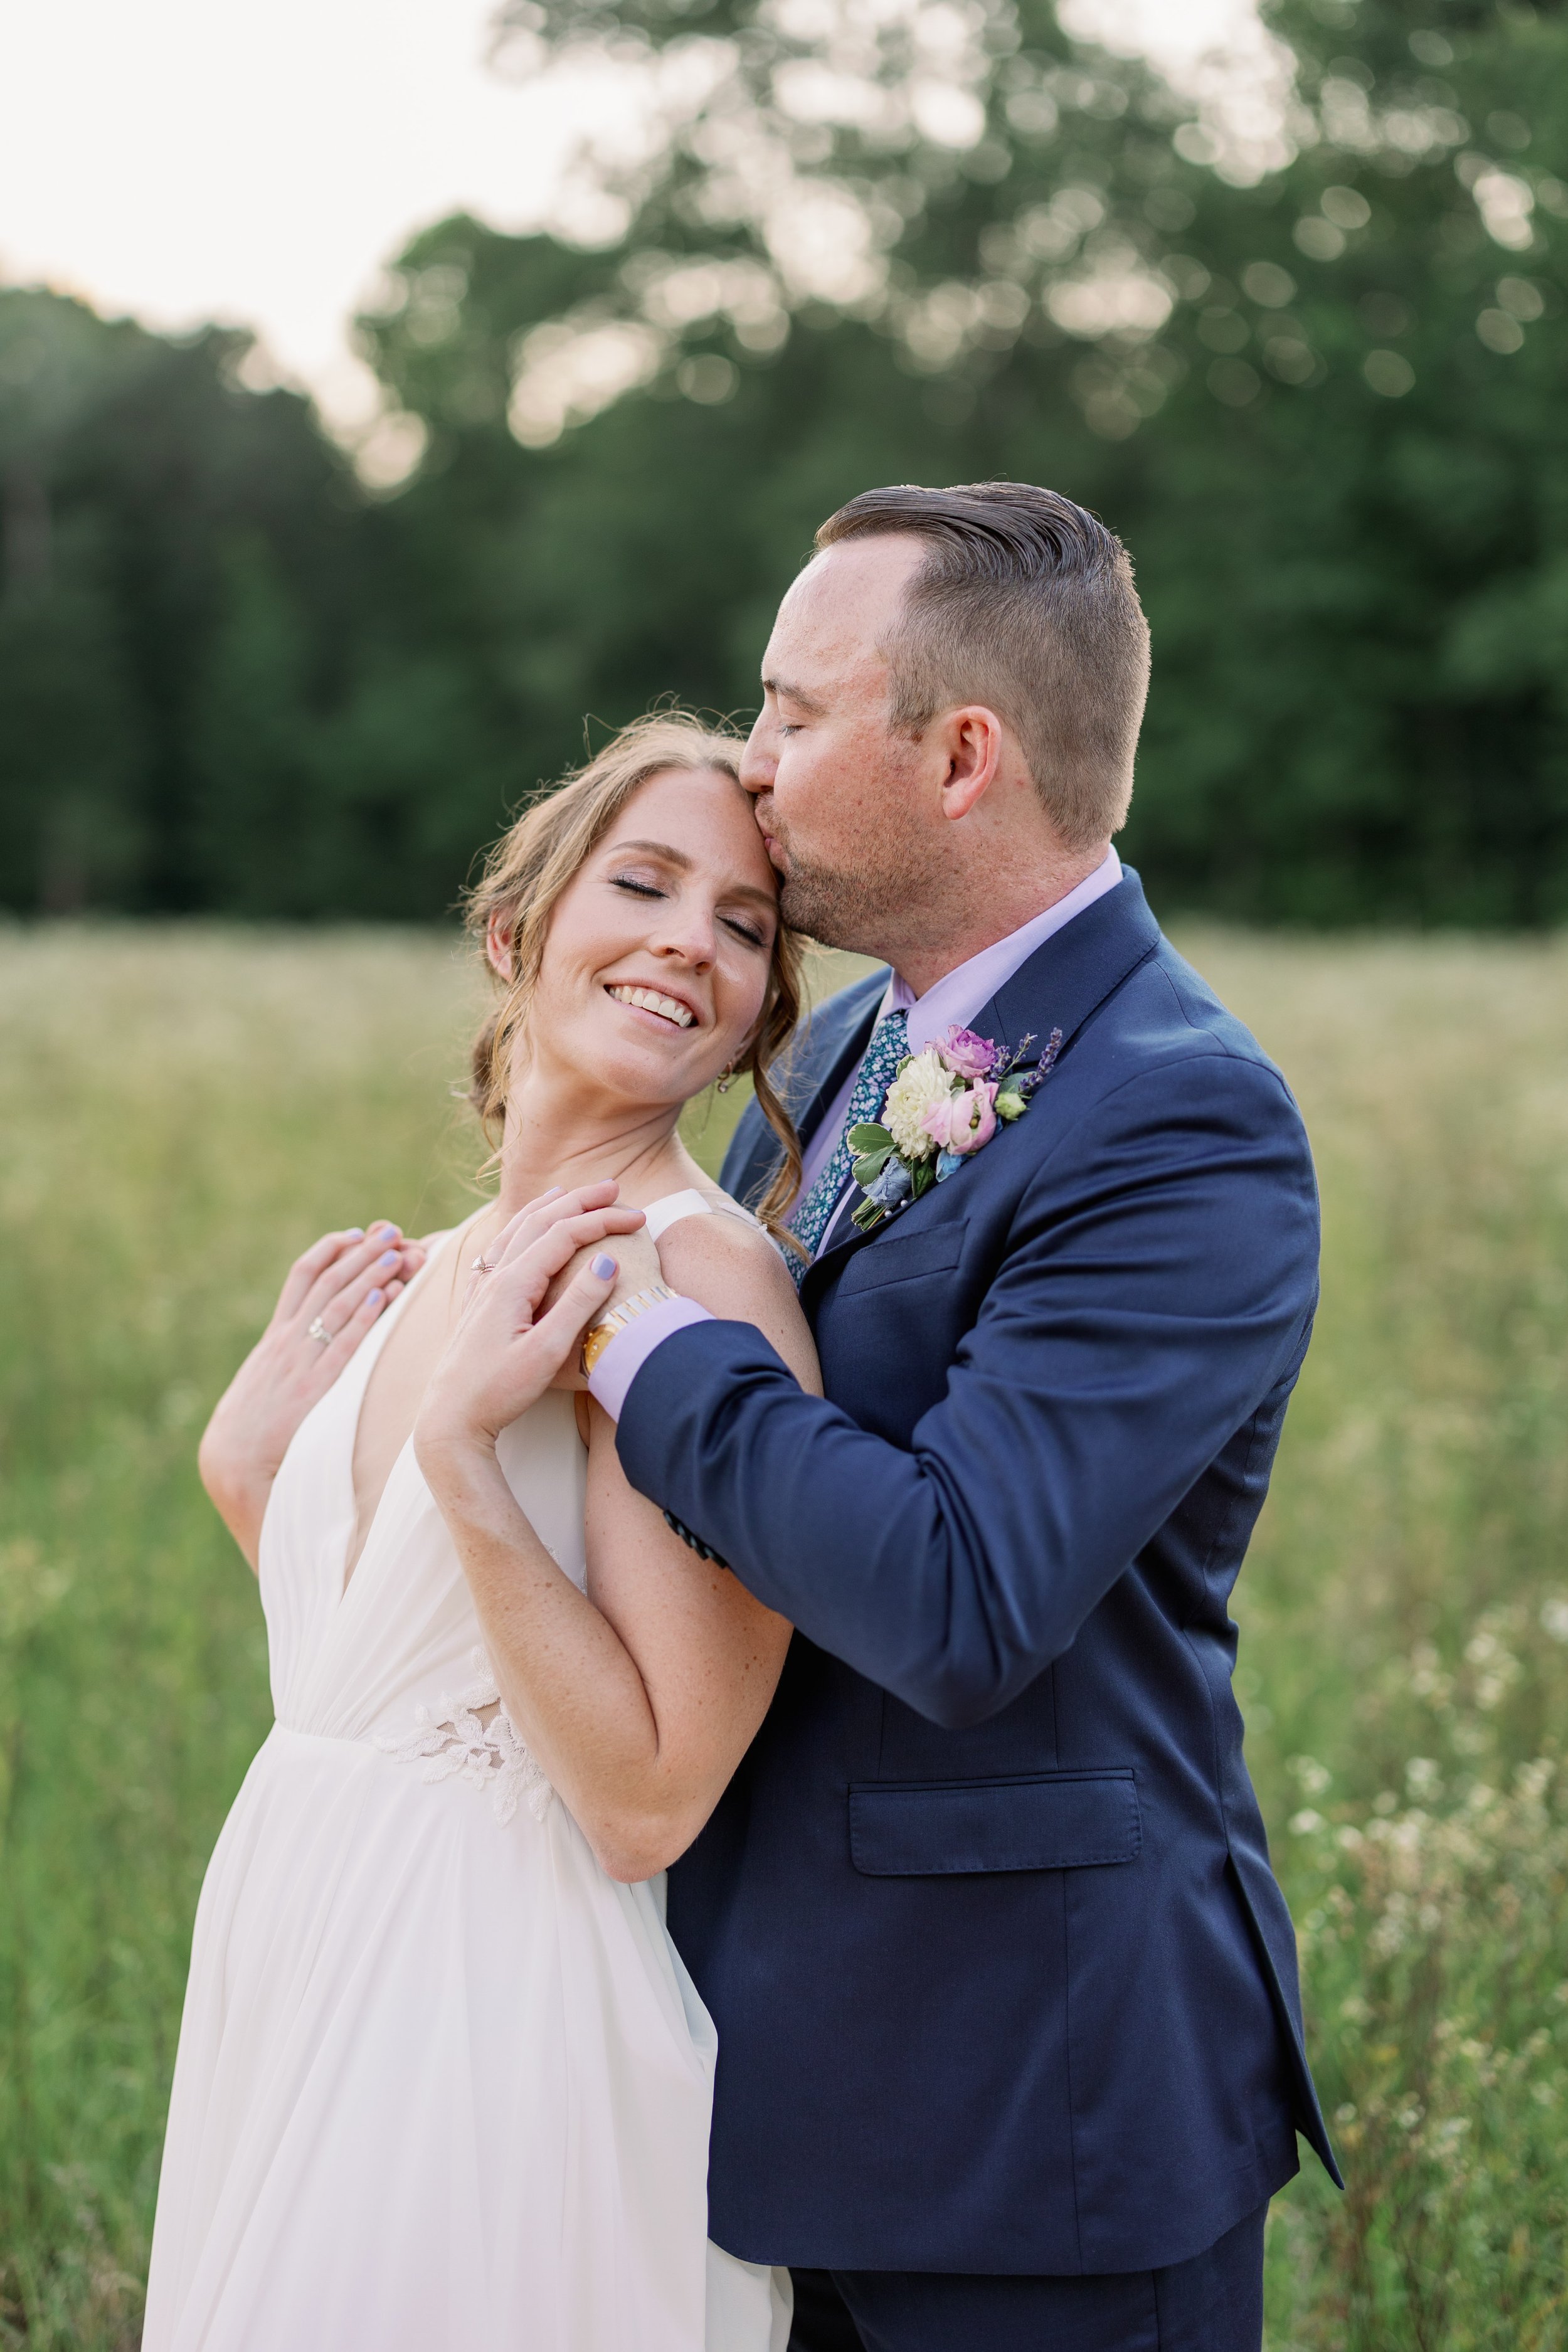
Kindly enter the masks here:
M 1298 2131 L 1335 2173 L 1227 1616 L 1312 1329 L 1307 1138 L 1110 847 L 1119 541 L 987 482 L 816 546 L 743 781 L 788 922 L 891 964 L 792 1073 L 825 1397 L 684 1298 L 592 1376 L 632 1484 L 799 1628 L 670 1872 L 710 2227 L 790 2265 L 795 2352 L 1258 2352 Z M 867 1232 L 846 1131 L 954 1025 L 1034 1091 Z M 769 1174 L 752 1110 L 724 1183 Z

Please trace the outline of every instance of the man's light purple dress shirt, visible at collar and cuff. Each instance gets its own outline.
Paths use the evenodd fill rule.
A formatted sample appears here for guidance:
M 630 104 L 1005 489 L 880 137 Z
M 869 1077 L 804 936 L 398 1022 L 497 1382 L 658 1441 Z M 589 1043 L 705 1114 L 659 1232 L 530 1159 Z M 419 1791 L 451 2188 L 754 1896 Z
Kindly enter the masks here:
M 910 1016 L 910 1054 L 924 1054 L 929 1044 L 936 1044 L 950 1028 L 969 1028 L 980 1007 L 990 1004 L 997 990 L 1006 988 L 1013 974 L 1027 964 L 1037 948 L 1044 948 L 1048 938 L 1056 938 L 1074 915 L 1081 915 L 1086 906 L 1103 898 L 1107 889 L 1114 889 L 1121 880 L 1121 858 L 1114 849 L 1105 851 L 1105 863 L 1095 866 L 1086 882 L 1070 889 L 1065 898 L 1048 906 L 1041 915 L 1030 917 L 1018 931 L 1009 931 L 990 948 L 980 948 L 971 955 L 966 964 L 954 964 L 945 971 L 940 981 L 926 988 L 924 997 L 910 990 L 910 983 L 898 974 L 886 985 L 886 995 L 877 1007 L 877 1018 L 891 1011 L 907 1011 Z M 849 1098 L 856 1091 L 856 1077 L 860 1065 L 849 1073 L 825 1115 L 818 1122 L 816 1134 L 804 1155 L 799 1188 L 809 1192 L 820 1171 L 827 1167 L 835 1143 L 839 1141 L 839 1129 L 844 1127 L 844 1115 L 849 1110 Z M 823 1230 L 823 1244 L 832 1232 L 832 1218 Z M 661 1341 L 670 1338 L 672 1331 L 684 1331 L 686 1324 L 712 1322 L 708 1308 L 701 1308 L 696 1298 L 665 1298 L 646 1315 L 637 1315 L 625 1331 L 616 1331 L 609 1348 L 602 1352 L 599 1362 L 592 1367 L 588 1378 L 588 1395 L 595 1397 L 611 1421 L 621 1418 L 621 1406 L 625 1404 L 625 1392 L 651 1357 Z

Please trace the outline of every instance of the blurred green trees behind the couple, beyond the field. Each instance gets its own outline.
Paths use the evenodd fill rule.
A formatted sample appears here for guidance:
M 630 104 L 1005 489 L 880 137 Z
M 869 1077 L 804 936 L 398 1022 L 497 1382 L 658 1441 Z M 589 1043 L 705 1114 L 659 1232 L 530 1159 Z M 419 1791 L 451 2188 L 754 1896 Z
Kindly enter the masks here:
M 599 245 L 404 252 L 362 320 L 425 435 L 390 499 L 233 339 L 0 296 L 5 381 L 35 334 L 82 383 L 49 435 L 0 405 L 71 543 L 42 593 L 7 492 L 9 903 L 440 913 L 585 722 L 755 703 L 844 496 L 1009 475 L 1133 548 L 1164 906 L 1561 920 L 1568 26 L 1267 21 L 1246 120 L 1051 0 L 515 0 L 503 61 L 607 52 L 656 134 L 585 155 Z

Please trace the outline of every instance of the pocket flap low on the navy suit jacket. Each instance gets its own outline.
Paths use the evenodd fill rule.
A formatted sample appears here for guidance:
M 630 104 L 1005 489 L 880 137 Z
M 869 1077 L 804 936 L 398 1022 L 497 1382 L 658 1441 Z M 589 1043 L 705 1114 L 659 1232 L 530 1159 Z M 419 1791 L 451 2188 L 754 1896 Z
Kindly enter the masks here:
M 1131 1863 L 1143 1844 L 1131 1766 L 1027 1780 L 860 1780 L 849 1851 L 875 1879 Z

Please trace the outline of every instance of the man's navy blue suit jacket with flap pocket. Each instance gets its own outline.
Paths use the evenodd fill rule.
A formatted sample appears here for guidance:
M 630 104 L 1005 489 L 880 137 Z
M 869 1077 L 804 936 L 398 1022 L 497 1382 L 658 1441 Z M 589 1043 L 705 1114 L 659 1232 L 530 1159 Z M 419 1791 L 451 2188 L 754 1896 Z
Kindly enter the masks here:
M 813 1021 L 804 1127 L 886 974 Z M 1016 1127 L 806 1275 L 825 1397 L 738 1322 L 621 1461 L 795 1621 L 670 1872 L 719 2030 L 710 2227 L 757 2263 L 1180 2263 L 1333 2171 L 1227 1597 L 1316 1301 L 1300 1115 L 1128 873 L 973 1028 L 1063 1030 Z M 748 1112 L 726 1185 L 771 1152 Z M 1335 2176 L 1338 2178 L 1338 2176 Z

